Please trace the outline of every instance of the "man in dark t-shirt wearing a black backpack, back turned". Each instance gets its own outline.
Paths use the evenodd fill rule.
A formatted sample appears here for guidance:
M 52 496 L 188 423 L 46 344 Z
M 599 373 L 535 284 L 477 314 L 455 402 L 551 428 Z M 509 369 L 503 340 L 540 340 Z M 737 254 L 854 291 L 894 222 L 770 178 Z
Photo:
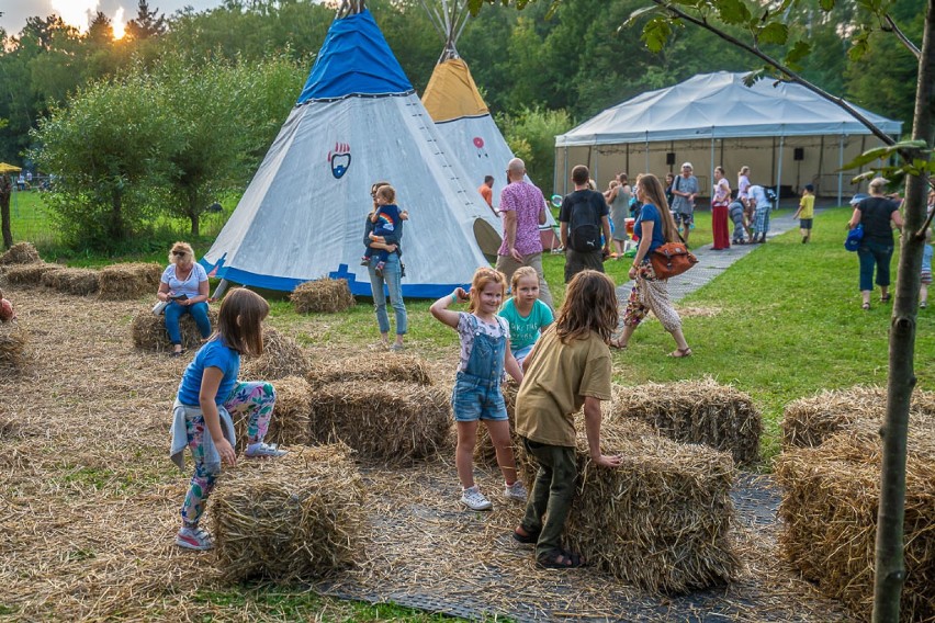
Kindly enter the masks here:
M 604 260 L 610 256 L 609 208 L 601 193 L 588 189 L 589 178 L 590 171 L 584 165 L 572 169 L 575 191 L 565 195 L 559 212 L 565 283 L 585 269 L 604 272 Z

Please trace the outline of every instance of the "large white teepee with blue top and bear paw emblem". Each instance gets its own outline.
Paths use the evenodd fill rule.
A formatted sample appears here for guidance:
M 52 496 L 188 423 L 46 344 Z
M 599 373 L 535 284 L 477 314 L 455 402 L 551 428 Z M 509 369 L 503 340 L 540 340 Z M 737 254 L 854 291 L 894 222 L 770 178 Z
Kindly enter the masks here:
M 323 276 L 370 295 L 364 219 L 386 181 L 408 209 L 404 296 L 471 282 L 499 233 L 464 188 L 435 125 L 368 11 L 335 20 L 305 88 L 240 203 L 201 260 L 229 281 L 281 291 Z

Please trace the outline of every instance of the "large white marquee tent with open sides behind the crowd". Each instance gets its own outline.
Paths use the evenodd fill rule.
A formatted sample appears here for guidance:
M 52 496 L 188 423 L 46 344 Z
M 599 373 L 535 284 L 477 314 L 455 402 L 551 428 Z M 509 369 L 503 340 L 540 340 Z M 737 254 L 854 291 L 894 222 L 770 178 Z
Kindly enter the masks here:
M 567 172 L 588 165 L 605 183 L 619 171 L 678 171 L 690 161 L 710 189 L 718 165 L 732 185 L 741 166 L 753 169 L 754 183 L 798 193 L 815 184 L 825 196 L 856 192 L 842 165 L 880 145 L 860 122 L 804 87 L 764 79 L 752 87 L 745 73 L 720 71 L 695 76 L 666 89 L 650 91 L 611 106 L 555 138 L 555 184 Z M 853 104 L 852 104 L 853 105 Z M 854 106 L 889 135 L 902 122 Z

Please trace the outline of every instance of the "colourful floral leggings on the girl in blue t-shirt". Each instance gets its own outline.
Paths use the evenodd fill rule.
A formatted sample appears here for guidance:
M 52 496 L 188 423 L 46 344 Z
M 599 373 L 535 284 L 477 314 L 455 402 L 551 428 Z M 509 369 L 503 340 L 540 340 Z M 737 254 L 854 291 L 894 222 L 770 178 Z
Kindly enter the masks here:
M 275 389 L 270 383 L 241 381 L 234 386 L 234 390 L 222 406 L 235 421 L 244 417 L 249 418 L 247 443 L 256 443 L 267 434 L 274 404 Z M 185 501 L 182 503 L 182 523 L 185 528 L 195 528 L 204 512 L 207 497 L 214 490 L 219 466 L 209 466 L 204 462 L 202 442 L 205 434 L 211 434 L 206 432 L 204 416 L 185 417 L 185 432 L 195 471 L 189 485 L 189 492 L 185 494 Z

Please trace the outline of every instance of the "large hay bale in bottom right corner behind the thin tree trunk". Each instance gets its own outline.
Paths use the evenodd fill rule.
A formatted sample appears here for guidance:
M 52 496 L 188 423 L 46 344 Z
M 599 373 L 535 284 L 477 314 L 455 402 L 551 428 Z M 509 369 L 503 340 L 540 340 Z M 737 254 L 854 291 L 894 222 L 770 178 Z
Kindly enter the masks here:
M 905 469 L 905 585 L 901 621 L 935 620 L 935 444 L 910 429 Z M 784 487 L 784 554 L 825 594 L 869 621 L 882 450 L 879 435 L 844 431 L 776 460 Z

